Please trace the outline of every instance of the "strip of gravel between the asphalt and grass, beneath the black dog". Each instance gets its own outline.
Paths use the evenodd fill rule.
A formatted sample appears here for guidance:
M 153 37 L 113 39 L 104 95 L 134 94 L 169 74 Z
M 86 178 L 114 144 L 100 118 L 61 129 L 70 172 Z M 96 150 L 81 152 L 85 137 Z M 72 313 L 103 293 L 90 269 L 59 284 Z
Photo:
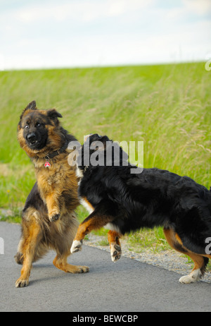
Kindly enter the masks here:
M 101 241 L 106 239 L 104 236 L 96 236 L 94 234 L 89 234 L 89 239 L 84 239 L 84 244 L 91 247 L 96 247 L 101 250 L 106 250 L 110 253 L 109 246 L 101 246 Z M 162 267 L 165 270 L 170 270 L 172 272 L 177 272 L 181 275 L 189 274 L 193 268 L 193 263 L 188 262 L 180 253 L 175 250 L 165 250 L 159 253 L 153 253 L 150 249 L 144 250 L 141 253 L 135 253 L 129 247 L 126 240 L 121 239 L 122 246 L 122 256 L 127 258 L 132 258 L 138 260 L 139 262 L 146 262 L 149 265 L 154 265 L 157 267 Z M 108 255 L 110 259 L 110 255 Z M 121 259 L 121 258 L 120 258 Z M 203 282 L 211 283 L 211 272 L 205 272 Z

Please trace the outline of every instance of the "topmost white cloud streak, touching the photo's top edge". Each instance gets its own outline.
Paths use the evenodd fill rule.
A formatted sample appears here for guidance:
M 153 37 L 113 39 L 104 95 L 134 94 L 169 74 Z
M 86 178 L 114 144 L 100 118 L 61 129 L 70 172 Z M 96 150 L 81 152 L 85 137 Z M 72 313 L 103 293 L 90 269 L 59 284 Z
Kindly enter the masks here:
M 92 21 L 96 19 L 120 16 L 132 11 L 144 10 L 155 0 L 104 0 L 68 1 L 62 4 L 32 4 L 13 12 L 13 18 L 30 23 L 39 20 L 63 21 L 68 19 Z

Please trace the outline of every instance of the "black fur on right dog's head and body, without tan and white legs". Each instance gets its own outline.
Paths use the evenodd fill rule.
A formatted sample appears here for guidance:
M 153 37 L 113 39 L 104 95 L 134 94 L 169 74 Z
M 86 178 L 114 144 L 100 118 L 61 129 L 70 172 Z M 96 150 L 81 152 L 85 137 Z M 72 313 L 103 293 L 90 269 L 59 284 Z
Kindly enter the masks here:
M 106 149 L 107 136 L 91 135 L 89 143 L 100 140 Z M 120 166 L 85 166 L 79 183 L 79 196 L 87 198 L 98 215 L 113 217 L 113 226 L 121 234 L 143 227 L 162 226 L 173 229 L 184 247 L 194 253 L 205 254 L 205 239 L 211 236 L 211 192 L 188 176 L 179 176 L 161 169 L 143 169 L 141 174 L 131 174 L 134 166 L 127 162 L 120 149 Z M 90 151 L 90 155 L 94 150 Z M 106 150 L 104 150 L 106 157 Z M 106 162 L 106 159 L 105 159 Z M 101 217 L 99 217 L 101 218 Z M 87 219 L 84 220 L 87 221 Z M 207 258 L 205 258 L 207 261 Z

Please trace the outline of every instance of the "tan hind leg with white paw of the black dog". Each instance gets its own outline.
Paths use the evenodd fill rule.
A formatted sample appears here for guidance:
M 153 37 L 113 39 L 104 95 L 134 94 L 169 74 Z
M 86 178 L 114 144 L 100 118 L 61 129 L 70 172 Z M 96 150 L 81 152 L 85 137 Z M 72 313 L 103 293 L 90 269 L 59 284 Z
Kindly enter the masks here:
M 203 257 L 203 255 L 192 253 L 190 250 L 185 248 L 178 234 L 175 233 L 172 229 L 164 229 L 163 231 L 170 246 L 175 250 L 179 251 L 179 253 L 184 253 L 184 255 L 188 255 L 194 262 L 194 267 L 191 273 L 186 276 L 180 277 L 179 282 L 189 284 L 199 281 L 205 273 L 205 268 L 209 259 Z

